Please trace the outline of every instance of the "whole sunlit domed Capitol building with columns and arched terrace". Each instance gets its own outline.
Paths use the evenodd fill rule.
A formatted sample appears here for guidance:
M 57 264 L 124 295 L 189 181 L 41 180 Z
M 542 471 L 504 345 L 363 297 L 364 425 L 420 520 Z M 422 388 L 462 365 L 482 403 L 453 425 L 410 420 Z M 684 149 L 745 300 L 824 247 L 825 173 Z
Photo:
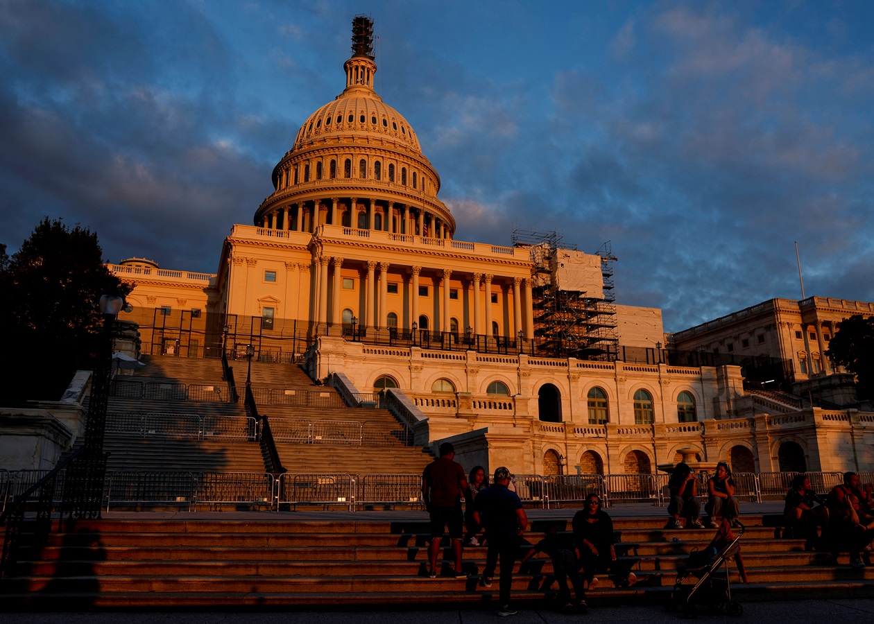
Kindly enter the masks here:
M 111 265 L 134 285 L 125 320 L 142 353 L 233 359 L 252 345 L 316 383 L 391 393 L 416 444 L 450 440 L 466 465 L 874 469 L 874 413 L 824 356 L 824 336 L 874 304 L 773 300 L 666 336 L 661 310 L 615 301 L 609 243 L 468 241 L 417 132 L 374 91 L 366 17 L 352 52 L 342 93 L 304 121 L 216 274 Z

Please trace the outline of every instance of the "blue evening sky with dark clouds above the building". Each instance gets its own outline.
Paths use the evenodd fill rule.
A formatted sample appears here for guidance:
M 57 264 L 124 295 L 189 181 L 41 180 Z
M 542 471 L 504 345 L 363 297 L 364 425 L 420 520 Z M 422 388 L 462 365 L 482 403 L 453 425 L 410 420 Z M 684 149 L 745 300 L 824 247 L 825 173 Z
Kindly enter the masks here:
M 538 8 L 538 5 L 543 8 Z M 874 301 L 874 3 L 0 0 L 0 242 L 213 273 L 343 90 L 350 22 L 456 239 L 612 242 L 679 330 L 773 297 Z

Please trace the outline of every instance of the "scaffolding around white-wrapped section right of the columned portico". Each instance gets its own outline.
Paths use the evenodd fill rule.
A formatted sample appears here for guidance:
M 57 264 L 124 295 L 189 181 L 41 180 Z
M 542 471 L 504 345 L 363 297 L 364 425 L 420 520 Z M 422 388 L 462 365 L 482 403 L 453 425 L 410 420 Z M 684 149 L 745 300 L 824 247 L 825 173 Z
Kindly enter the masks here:
M 513 246 L 530 249 L 534 262 L 531 304 L 538 350 L 555 357 L 616 359 L 616 258 L 610 241 L 586 254 L 554 230 L 515 228 Z

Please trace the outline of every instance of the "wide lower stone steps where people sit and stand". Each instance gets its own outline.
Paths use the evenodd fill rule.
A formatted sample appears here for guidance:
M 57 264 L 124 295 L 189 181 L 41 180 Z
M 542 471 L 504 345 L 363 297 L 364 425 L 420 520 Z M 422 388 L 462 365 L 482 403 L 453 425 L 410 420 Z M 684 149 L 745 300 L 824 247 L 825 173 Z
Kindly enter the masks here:
M 572 510 L 531 522 L 525 544 L 534 544 L 556 525 L 570 529 Z M 289 514 L 210 518 L 79 521 L 53 533 L 45 546 L 23 550 L 15 576 L 3 579 L 4 605 L 38 609 L 45 600 L 58 608 L 227 607 L 332 608 L 494 607 L 497 579 L 478 585 L 484 547 L 467 548 L 468 579 L 454 579 L 442 563 L 437 579 L 427 577 L 427 522 L 295 519 Z M 347 517 L 348 518 L 348 517 Z M 828 554 L 803 551 L 802 540 L 778 539 L 762 517 L 744 517 L 742 552 L 749 583 L 731 567 L 732 594 L 749 600 L 872 597 L 874 568 L 851 568 Z M 711 530 L 663 530 L 663 518 L 616 518 L 617 551 L 634 558 L 638 582 L 615 587 L 600 576 L 589 592 L 590 607 L 631 601 L 665 603 L 676 565 L 693 548 L 704 547 Z M 521 550 L 520 550 L 521 554 Z M 866 555 L 867 556 L 867 555 Z M 451 558 L 445 549 L 440 561 Z M 842 565 L 843 564 L 843 565 Z M 517 565 L 517 570 L 519 569 Z M 513 600 L 541 605 L 556 585 L 548 558 L 533 558 L 513 580 Z

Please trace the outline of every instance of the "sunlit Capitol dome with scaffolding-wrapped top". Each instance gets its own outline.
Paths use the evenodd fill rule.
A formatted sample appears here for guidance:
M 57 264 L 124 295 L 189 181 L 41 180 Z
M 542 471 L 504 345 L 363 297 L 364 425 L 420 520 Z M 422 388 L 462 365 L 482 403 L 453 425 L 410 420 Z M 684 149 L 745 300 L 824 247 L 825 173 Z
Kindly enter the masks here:
M 437 198 L 440 176 L 402 114 L 373 90 L 372 22 L 352 22 L 346 85 L 307 121 L 273 170 L 260 227 L 317 233 L 319 225 L 452 239 L 455 219 Z

